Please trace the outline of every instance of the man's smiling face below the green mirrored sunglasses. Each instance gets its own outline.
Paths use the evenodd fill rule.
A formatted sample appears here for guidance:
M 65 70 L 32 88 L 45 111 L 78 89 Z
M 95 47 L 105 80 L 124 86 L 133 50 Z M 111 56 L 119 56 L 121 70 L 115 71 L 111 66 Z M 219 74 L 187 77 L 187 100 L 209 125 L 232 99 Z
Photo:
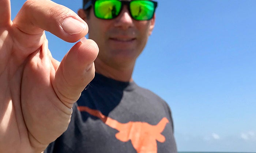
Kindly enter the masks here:
M 149 21 L 137 21 L 124 6 L 116 18 L 103 20 L 95 17 L 93 11 L 91 8 L 85 21 L 89 26 L 89 38 L 99 47 L 97 60 L 112 67 L 133 66 L 154 28 L 155 16 Z

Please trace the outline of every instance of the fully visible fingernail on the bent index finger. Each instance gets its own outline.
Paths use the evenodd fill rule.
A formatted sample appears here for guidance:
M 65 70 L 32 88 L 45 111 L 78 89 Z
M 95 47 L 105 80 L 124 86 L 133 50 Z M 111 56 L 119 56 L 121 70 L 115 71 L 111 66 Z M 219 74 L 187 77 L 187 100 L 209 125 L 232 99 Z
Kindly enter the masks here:
M 67 19 L 65 19 L 61 25 L 63 30 L 71 35 L 79 34 L 80 32 L 83 31 L 85 26 L 86 25 L 84 23 L 82 23 L 72 17 L 68 17 Z

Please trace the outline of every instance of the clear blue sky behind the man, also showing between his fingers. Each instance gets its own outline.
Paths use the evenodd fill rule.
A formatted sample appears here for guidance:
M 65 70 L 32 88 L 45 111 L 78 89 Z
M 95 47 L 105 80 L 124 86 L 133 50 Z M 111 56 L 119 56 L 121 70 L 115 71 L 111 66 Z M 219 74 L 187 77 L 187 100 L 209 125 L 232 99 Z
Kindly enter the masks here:
M 25 0 L 12 0 L 12 19 Z M 77 12 L 82 0 L 54 0 Z M 256 152 L 256 1 L 159 0 L 133 73 L 172 109 L 179 151 Z M 72 47 L 47 33 L 61 60 Z

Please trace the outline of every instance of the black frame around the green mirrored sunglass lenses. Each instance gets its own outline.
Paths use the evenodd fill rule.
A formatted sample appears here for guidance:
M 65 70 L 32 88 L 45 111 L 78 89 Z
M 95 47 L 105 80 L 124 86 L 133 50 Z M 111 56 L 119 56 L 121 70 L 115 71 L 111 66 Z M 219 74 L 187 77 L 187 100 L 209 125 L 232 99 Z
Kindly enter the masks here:
M 97 0 L 89 0 L 86 4 L 83 5 L 83 9 L 86 10 L 86 9 L 90 8 L 92 5 L 95 4 L 96 1 L 97 1 Z M 138 20 L 138 19 L 135 19 L 135 18 L 132 16 L 131 9 L 130 9 L 130 3 L 131 3 L 131 1 L 136 1 L 136 0 L 131 0 L 131 1 L 117 0 L 117 1 L 121 1 L 121 9 L 120 9 L 120 12 L 123 10 L 124 5 L 126 5 L 127 8 L 128 8 L 128 10 L 129 10 L 129 13 L 130 13 L 130 16 L 132 17 L 132 19 Z M 151 20 L 151 19 L 153 18 L 153 16 L 154 16 L 155 9 L 157 8 L 157 1 L 152 1 L 152 0 L 148 0 L 148 1 L 151 1 L 151 2 L 154 3 L 154 12 L 153 12 L 152 16 L 151 16 L 149 19 L 147 19 L 147 20 Z M 94 15 L 96 16 L 96 14 L 95 14 L 95 8 L 94 8 L 94 11 L 93 11 L 93 12 L 94 12 Z M 120 14 L 120 12 L 118 13 L 118 15 Z M 118 16 L 118 15 L 117 15 L 117 16 Z M 116 18 L 117 16 L 113 17 L 112 19 Z M 97 16 L 96 16 L 96 17 L 97 17 Z M 97 17 L 97 18 L 102 19 L 102 18 L 100 18 L 100 17 Z M 102 19 L 102 20 L 112 20 L 112 19 Z M 138 20 L 138 21 L 145 21 L 145 20 Z

